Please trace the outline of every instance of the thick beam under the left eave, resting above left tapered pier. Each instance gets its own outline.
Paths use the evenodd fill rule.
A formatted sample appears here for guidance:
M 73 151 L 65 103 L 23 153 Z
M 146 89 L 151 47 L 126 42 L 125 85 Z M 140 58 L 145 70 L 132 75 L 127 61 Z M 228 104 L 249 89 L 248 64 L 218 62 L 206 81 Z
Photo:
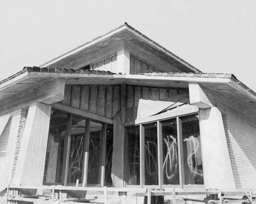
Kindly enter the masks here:
M 35 86 L 1 101 L 0 112 L 6 114 L 28 104 L 41 102 L 46 104 L 56 103 L 63 100 L 65 79 L 59 78 Z

